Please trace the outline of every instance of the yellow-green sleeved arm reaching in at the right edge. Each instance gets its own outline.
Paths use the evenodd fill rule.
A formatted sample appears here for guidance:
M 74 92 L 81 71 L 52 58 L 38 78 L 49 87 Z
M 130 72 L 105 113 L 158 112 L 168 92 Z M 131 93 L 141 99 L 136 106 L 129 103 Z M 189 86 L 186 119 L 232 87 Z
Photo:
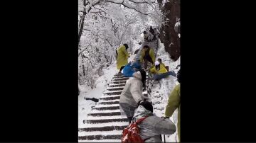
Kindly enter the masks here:
M 168 104 L 166 105 L 165 116 L 171 117 L 173 115 L 176 108 L 180 104 L 180 84 L 175 86 L 174 90 L 171 91 L 171 95 L 169 96 Z

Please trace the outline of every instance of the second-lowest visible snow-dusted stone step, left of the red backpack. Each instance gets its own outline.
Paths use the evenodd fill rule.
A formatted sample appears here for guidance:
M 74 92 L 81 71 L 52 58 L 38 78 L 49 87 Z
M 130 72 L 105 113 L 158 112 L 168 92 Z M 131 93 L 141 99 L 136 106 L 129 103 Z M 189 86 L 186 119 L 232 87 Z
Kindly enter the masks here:
M 93 132 L 93 131 L 112 131 L 112 130 L 124 130 L 127 125 L 110 125 L 105 127 L 85 127 L 79 128 L 78 132 Z

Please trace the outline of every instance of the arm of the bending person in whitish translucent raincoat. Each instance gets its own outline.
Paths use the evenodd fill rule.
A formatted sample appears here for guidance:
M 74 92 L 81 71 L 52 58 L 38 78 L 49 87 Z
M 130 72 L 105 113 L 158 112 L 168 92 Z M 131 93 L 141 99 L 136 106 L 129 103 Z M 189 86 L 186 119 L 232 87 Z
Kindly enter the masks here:
M 143 101 L 142 88 L 139 81 L 132 82 L 129 91 L 132 93 L 132 97 L 134 98 L 134 101 L 136 101 L 136 103 L 139 103 L 139 101 Z

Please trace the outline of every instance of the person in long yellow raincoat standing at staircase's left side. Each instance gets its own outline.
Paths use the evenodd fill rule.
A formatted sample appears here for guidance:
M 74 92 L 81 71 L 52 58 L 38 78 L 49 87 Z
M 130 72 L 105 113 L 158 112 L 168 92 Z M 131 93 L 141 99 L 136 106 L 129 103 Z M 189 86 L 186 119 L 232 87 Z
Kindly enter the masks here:
M 124 44 L 117 49 L 117 69 L 120 69 L 120 71 L 128 64 L 128 48 L 128 45 Z

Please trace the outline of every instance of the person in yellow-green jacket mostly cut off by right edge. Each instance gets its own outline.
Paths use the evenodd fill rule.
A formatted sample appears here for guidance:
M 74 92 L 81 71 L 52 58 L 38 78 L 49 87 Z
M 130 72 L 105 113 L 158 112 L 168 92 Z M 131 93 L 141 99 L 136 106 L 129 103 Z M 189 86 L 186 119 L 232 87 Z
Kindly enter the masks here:
M 165 116 L 170 118 L 173 115 L 176 108 L 178 108 L 178 141 L 181 142 L 181 74 L 180 71 L 177 73 L 177 79 L 179 84 L 175 86 L 174 90 L 171 91 L 169 96 L 168 104 L 166 105 Z

